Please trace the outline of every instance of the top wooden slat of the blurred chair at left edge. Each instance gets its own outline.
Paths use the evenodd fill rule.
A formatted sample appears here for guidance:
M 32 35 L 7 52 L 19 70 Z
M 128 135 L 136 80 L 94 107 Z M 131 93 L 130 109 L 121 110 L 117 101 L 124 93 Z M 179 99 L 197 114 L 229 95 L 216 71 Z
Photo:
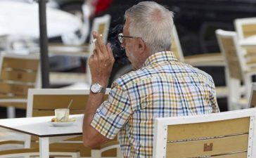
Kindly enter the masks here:
M 39 65 L 38 59 L 22 59 L 22 58 L 4 58 L 3 67 L 11 67 L 14 69 L 37 70 Z

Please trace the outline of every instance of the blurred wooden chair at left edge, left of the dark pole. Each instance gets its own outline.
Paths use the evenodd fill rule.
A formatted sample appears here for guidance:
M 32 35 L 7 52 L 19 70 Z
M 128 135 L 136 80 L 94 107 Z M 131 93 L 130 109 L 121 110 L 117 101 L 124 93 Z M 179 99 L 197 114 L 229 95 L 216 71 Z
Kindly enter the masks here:
M 26 109 L 28 88 L 41 87 L 39 55 L 1 53 L 0 106 L 7 117 L 15 117 L 15 108 Z

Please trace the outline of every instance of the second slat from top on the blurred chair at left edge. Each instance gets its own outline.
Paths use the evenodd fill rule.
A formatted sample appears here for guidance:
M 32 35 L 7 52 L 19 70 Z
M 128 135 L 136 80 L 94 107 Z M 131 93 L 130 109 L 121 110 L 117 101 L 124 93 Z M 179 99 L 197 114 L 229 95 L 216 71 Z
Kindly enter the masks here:
M 2 70 L 0 79 L 34 83 L 37 79 L 37 72 L 25 72 L 21 70 Z

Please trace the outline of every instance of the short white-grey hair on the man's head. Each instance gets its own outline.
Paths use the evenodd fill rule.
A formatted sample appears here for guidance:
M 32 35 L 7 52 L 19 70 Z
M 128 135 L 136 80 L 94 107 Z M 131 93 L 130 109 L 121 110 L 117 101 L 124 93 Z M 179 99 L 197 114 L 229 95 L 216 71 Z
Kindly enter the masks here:
M 129 18 L 129 35 L 141 37 L 150 53 L 169 51 L 173 13 L 154 1 L 142 1 L 129 8 L 124 18 Z

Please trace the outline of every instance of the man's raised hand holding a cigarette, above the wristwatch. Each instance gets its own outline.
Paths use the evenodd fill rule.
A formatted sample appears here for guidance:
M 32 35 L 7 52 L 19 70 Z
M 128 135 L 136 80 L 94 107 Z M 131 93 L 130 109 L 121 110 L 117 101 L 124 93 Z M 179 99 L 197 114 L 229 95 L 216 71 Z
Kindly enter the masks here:
M 108 85 L 108 79 L 110 77 L 115 58 L 110 48 L 110 44 L 107 44 L 106 46 L 97 32 L 93 32 L 93 36 L 96 41 L 94 53 L 89 58 L 91 81 L 92 83 L 97 82 L 106 87 Z

